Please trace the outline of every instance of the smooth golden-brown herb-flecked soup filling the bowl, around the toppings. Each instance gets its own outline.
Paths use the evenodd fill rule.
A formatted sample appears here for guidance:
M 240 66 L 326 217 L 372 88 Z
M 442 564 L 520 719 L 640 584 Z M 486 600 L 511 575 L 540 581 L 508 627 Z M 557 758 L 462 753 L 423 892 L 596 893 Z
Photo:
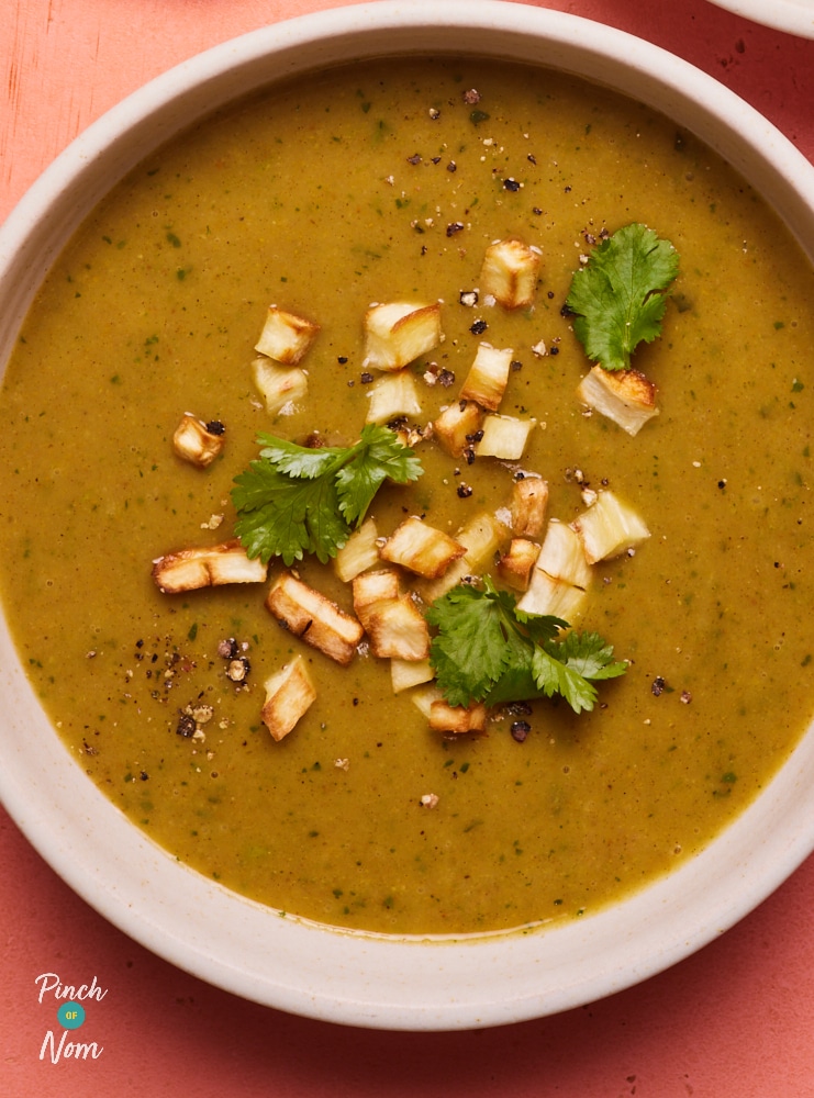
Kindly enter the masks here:
M 681 261 L 662 336 L 634 359 L 660 407 L 635 438 L 579 403 L 590 362 L 561 314 L 580 257 L 629 222 Z M 461 303 L 508 235 L 542 249 L 534 307 Z M 414 422 L 454 399 L 480 340 L 512 347 L 501 412 L 538 421 L 521 464 L 548 480 L 549 515 L 573 519 L 588 482 L 651 531 L 598 565 L 579 623 L 626 675 L 592 713 L 535 703 L 523 742 L 503 713 L 486 735 L 431 732 L 387 661 L 341 668 L 286 634 L 268 584 L 170 596 L 150 578 L 155 558 L 232 535 L 258 432 L 357 437 L 371 302 L 437 299 L 446 338 L 415 366 Z M 709 843 L 814 708 L 812 300 L 787 231 L 691 134 L 547 71 L 370 64 L 208 120 L 87 221 L 8 368 L 2 591 L 43 705 L 137 826 L 281 911 L 462 933 L 629 893 Z M 271 303 L 321 325 L 308 399 L 276 418 L 249 370 Z M 431 361 L 453 388 L 425 383 Z M 209 469 L 172 451 L 186 411 L 226 427 Z M 514 467 L 416 453 L 421 480 L 373 503 L 382 533 L 421 514 L 454 534 L 506 505 Z M 330 565 L 299 573 L 350 608 Z M 277 743 L 263 682 L 297 652 L 317 698 Z M 179 735 L 190 713 L 198 735 Z

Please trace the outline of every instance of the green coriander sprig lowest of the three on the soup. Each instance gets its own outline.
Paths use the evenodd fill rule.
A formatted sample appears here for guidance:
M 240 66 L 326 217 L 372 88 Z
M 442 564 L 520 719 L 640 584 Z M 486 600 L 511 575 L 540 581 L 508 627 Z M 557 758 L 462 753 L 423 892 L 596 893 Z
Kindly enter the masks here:
M 430 662 L 450 705 L 503 705 L 560 694 L 575 713 L 592 709 L 593 682 L 627 670 L 598 634 L 568 632 L 551 615 L 524 614 L 515 598 L 486 578 L 483 589 L 453 587 L 426 614 L 438 629 Z

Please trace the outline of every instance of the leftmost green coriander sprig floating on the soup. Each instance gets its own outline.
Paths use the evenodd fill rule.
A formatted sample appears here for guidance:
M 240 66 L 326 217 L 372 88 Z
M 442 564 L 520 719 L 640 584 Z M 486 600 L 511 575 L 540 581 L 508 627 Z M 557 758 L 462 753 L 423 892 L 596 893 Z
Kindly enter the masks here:
M 260 457 L 235 477 L 235 535 L 249 557 L 286 564 L 316 553 L 336 556 L 364 519 L 386 480 L 406 484 L 421 477 L 421 462 L 393 432 L 366 425 L 354 446 L 310 448 L 274 435 L 258 435 Z

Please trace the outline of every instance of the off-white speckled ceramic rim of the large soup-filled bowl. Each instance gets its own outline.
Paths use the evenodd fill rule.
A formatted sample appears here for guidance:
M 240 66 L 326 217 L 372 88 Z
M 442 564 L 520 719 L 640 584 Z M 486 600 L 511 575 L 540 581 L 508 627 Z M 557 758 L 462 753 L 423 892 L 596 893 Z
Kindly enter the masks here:
M 109 188 L 160 142 L 234 97 L 314 67 L 398 52 L 515 58 L 587 76 L 694 131 L 814 255 L 814 168 L 710 77 L 646 42 L 490 0 L 380 2 L 228 42 L 154 80 L 78 138 L 0 233 L 0 361 L 48 265 Z M 357 1026 L 457 1029 L 540 1017 L 621 990 L 721 934 L 814 845 L 814 731 L 701 855 L 627 901 L 545 932 L 376 938 L 316 927 L 178 864 L 91 784 L 42 713 L 0 624 L 0 792 L 43 858 L 111 922 L 212 984 Z

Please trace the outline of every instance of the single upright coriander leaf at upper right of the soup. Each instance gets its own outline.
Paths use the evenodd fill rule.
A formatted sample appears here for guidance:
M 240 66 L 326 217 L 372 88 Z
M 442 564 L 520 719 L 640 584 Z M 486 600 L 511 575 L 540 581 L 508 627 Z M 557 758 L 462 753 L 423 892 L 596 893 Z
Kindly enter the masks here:
M 577 271 L 566 305 L 588 357 L 605 370 L 627 370 L 643 340 L 661 332 L 665 290 L 678 274 L 678 253 L 646 225 L 625 225 Z

